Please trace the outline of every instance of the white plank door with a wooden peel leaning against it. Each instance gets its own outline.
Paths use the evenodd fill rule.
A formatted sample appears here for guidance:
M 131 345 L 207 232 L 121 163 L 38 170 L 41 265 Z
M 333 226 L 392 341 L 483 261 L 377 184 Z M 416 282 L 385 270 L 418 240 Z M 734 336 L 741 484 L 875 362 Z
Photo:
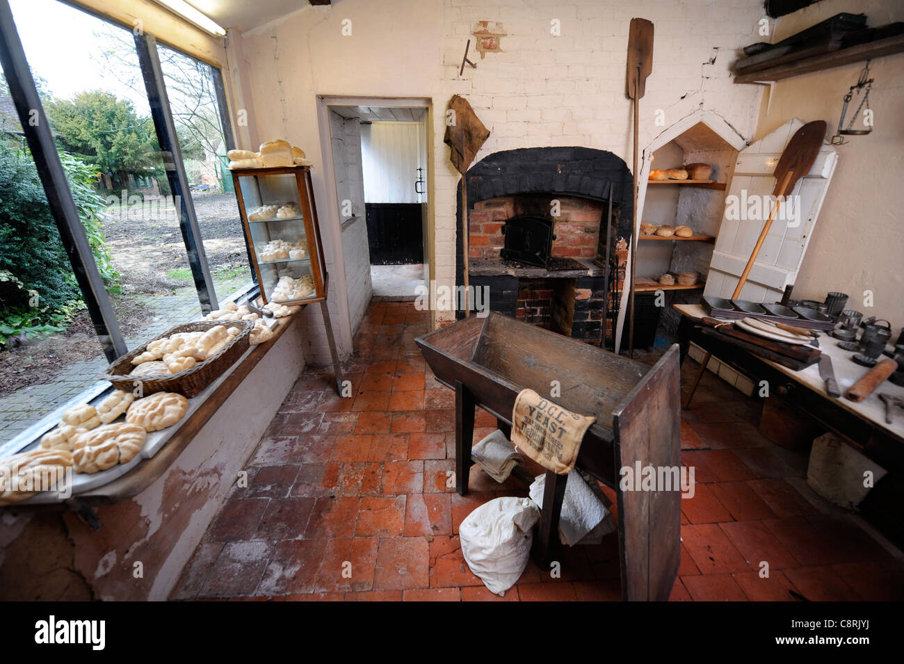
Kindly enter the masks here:
M 739 153 L 703 295 L 731 297 L 734 292 L 771 210 L 778 158 L 801 126 L 804 122 L 794 118 Z M 823 145 L 810 173 L 797 181 L 794 198 L 779 205 L 740 299 L 777 302 L 785 286 L 795 283 L 837 162 L 834 148 Z

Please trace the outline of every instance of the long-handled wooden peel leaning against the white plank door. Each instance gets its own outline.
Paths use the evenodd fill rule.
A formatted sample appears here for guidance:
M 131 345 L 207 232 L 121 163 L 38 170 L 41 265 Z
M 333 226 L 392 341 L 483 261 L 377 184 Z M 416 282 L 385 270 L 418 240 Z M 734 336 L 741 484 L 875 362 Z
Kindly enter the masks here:
M 806 173 L 809 173 L 810 169 L 813 168 L 816 157 L 819 155 L 819 150 L 823 146 L 825 130 L 826 124 L 824 120 L 808 122 L 798 129 L 794 136 L 791 136 L 791 140 L 788 141 L 788 145 L 785 146 L 785 151 L 782 152 L 781 157 L 779 157 L 775 173 L 773 173 L 776 178 L 776 186 L 772 190 L 772 195 L 776 198 L 776 201 L 772 206 L 772 210 L 769 211 L 769 217 L 763 225 L 763 229 L 759 231 L 757 244 L 753 248 L 753 251 L 750 252 L 747 266 L 744 267 L 744 271 L 738 279 L 738 285 L 735 286 L 734 293 L 731 294 L 732 300 L 737 299 L 740 296 L 741 289 L 744 287 L 744 284 L 747 283 L 747 277 L 750 274 L 750 270 L 753 268 L 753 264 L 757 262 L 759 249 L 763 247 L 763 242 L 766 240 L 769 229 L 772 228 L 772 220 L 776 217 L 778 206 L 781 203 L 781 197 L 786 196 L 789 192 L 793 192 L 797 181 L 804 177 Z M 697 389 L 697 384 L 700 382 L 700 379 L 702 379 L 703 371 L 706 370 L 706 365 L 710 363 L 711 357 L 711 352 L 707 352 L 703 357 L 700 369 L 693 379 L 691 393 L 684 402 L 685 408 L 691 406 L 693 393 Z

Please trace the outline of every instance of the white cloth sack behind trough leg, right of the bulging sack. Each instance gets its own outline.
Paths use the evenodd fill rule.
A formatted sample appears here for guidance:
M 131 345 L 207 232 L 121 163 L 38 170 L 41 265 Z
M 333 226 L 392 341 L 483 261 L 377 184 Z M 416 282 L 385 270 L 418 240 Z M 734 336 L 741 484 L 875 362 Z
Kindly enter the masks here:
M 545 488 L 546 475 L 537 475 L 530 488 L 531 500 L 542 505 Z M 605 498 L 605 494 L 603 497 Z M 568 482 L 565 484 L 565 498 L 562 500 L 559 517 L 561 543 L 573 547 L 591 531 L 592 541 L 598 542 L 602 536 L 615 529 L 612 514 L 606 509 L 603 500 L 599 499 L 579 472 L 570 472 Z

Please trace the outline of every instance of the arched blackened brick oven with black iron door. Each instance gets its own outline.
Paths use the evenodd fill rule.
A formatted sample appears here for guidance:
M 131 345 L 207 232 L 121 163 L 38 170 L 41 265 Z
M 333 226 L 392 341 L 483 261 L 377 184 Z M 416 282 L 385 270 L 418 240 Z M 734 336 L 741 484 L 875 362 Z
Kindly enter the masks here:
M 611 339 L 633 184 L 625 162 L 604 150 L 532 147 L 488 155 L 467 173 L 470 285 L 488 286 L 492 311 L 597 346 Z

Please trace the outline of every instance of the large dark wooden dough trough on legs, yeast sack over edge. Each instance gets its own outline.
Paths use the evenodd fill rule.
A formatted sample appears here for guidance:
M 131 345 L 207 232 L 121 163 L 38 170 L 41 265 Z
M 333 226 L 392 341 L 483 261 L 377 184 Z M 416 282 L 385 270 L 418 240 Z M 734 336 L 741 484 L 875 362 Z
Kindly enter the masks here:
M 622 598 L 666 600 L 681 562 L 681 492 L 621 491 L 624 466 L 680 468 L 678 346 L 654 367 L 499 313 L 472 316 L 416 340 L 437 379 L 456 390 L 456 489 L 467 492 L 475 407 L 512 424 L 523 388 L 597 416 L 581 444 L 577 467 L 617 491 Z M 566 475 L 547 472 L 534 556 L 545 565 L 558 541 Z

